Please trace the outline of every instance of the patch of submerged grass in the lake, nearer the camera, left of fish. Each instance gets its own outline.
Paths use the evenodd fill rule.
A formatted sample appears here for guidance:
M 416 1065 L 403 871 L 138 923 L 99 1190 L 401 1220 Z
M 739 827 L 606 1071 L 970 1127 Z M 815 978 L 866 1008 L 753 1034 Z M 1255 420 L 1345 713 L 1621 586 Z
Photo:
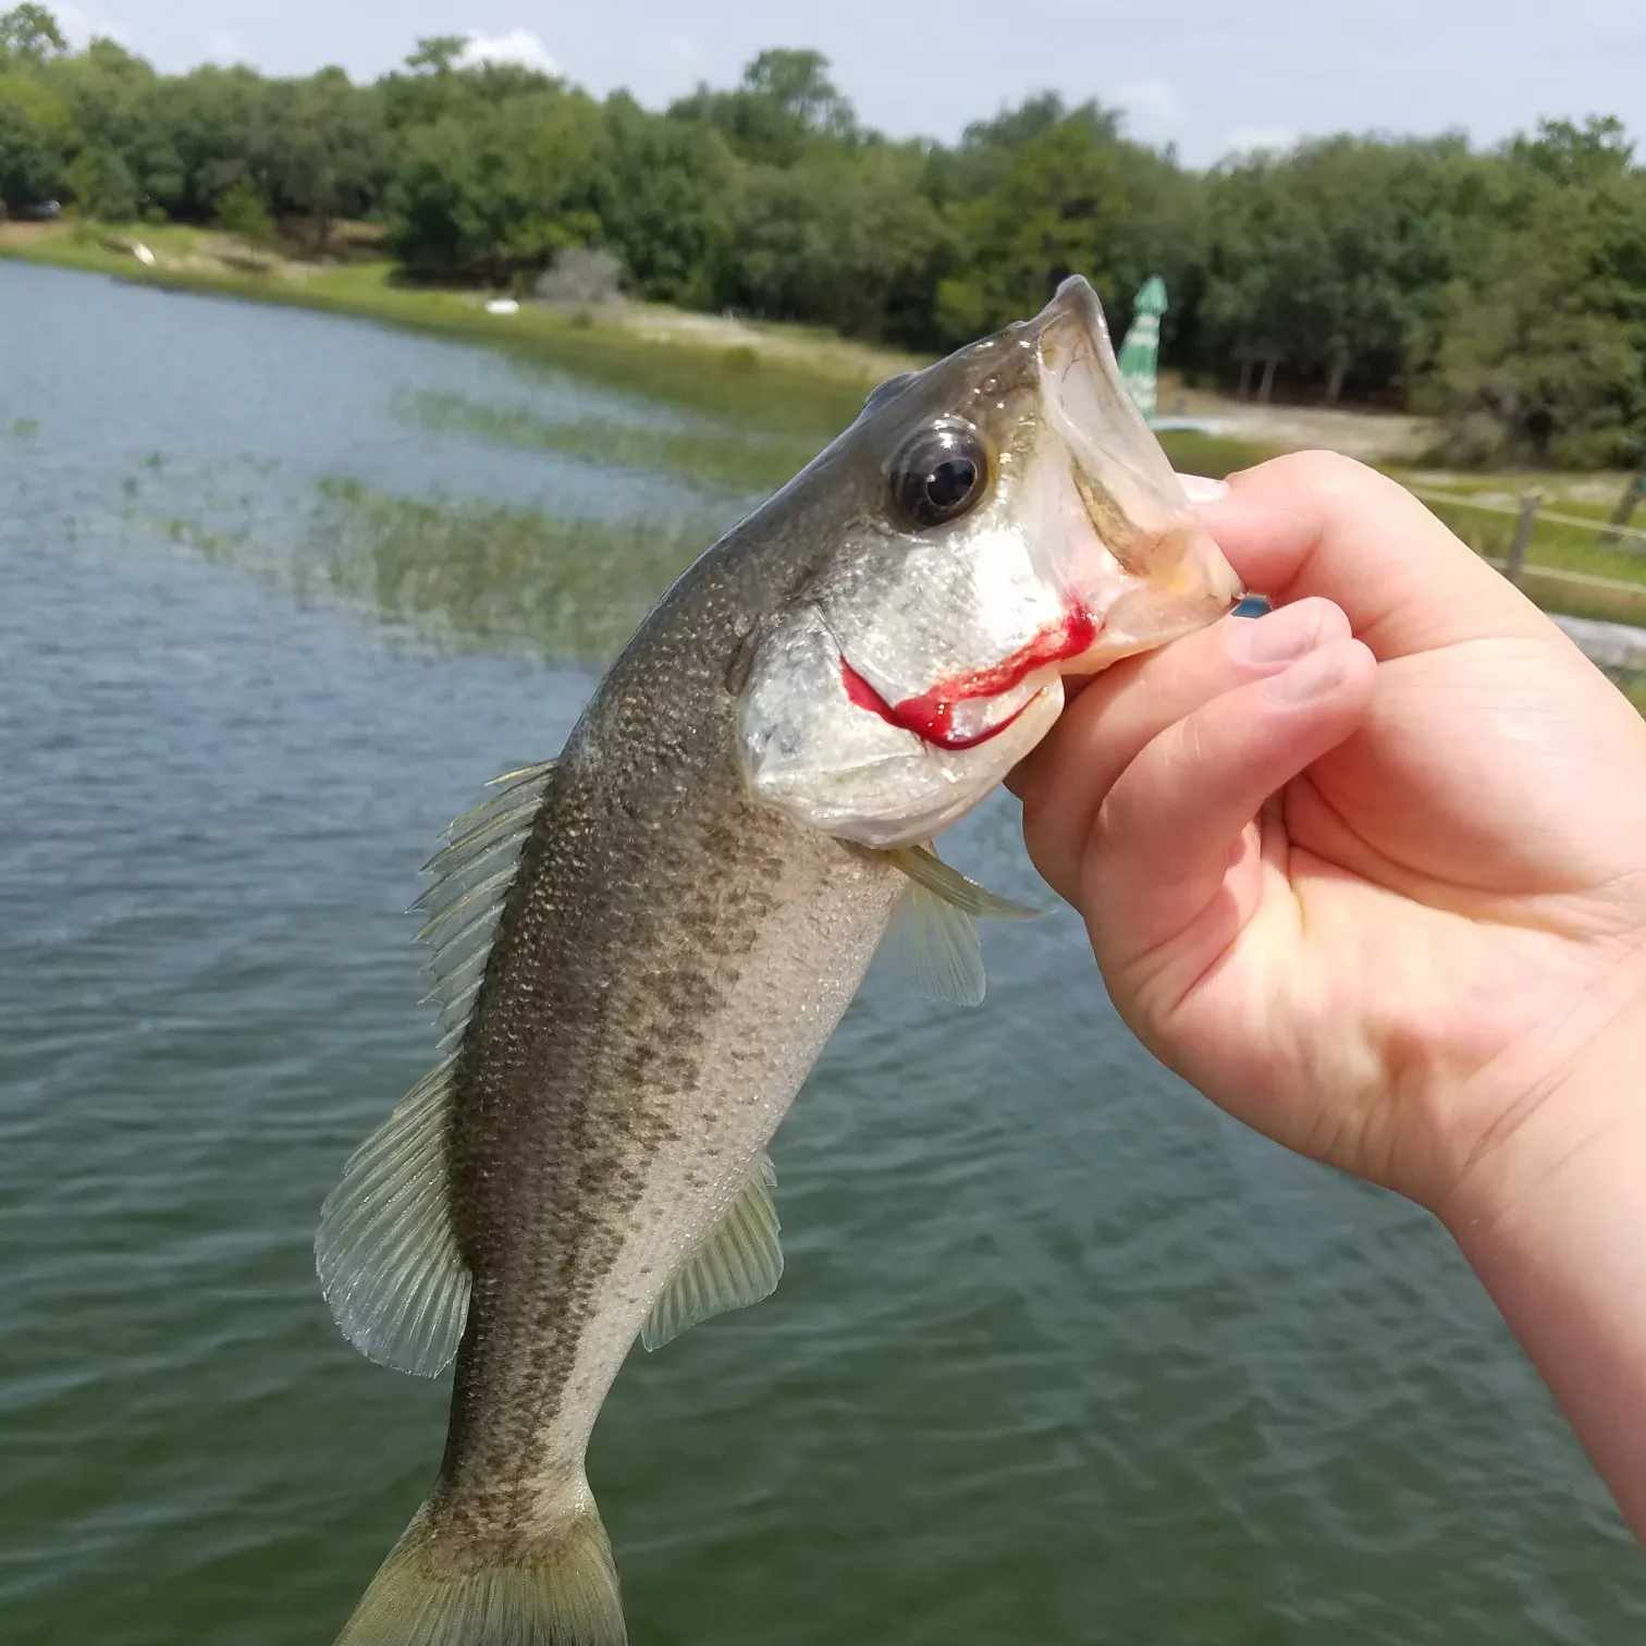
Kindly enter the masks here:
M 724 523 L 563 518 L 326 479 L 298 568 L 305 583 L 318 571 L 390 621 L 594 663 L 622 645 Z

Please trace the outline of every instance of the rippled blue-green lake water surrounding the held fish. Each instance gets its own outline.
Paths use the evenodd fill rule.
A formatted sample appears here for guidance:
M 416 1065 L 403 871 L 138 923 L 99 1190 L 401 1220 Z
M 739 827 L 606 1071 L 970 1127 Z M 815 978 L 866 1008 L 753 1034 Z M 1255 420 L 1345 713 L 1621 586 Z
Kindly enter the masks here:
M 0 263 L 7 1646 L 328 1646 L 439 1458 L 444 1386 L 341 1340 L 309 1241 L 431 1053 L 418 864 L 593 675 L 290 566 L 349 482 L 728 502 L 420 393 L 650 415 Z M 1034 884 L 1004 797 L 958 856 Z M 1068 915 L 984 942 L 979 1011 L 871 986 L 802 1093 L 777 1294 L 617 1383 L 637 1646 L 1639 1639 L 1646 1562 L 1444 1233 L 1159 1070 Z

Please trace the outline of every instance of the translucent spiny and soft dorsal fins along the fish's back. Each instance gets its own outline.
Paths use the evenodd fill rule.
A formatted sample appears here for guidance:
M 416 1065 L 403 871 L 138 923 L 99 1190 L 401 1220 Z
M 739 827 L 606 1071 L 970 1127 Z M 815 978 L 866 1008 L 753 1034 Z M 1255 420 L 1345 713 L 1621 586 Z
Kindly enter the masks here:
M 548 762 L 499 777 L 500 792 L 458 818 L 425 866 L 439 871 L 416 907 L 428 914 L 420 935 L 433 946 L 425 971 L 443 1045 L 467 1024 L 551 770 Z M 446 1188 L 453 1063 L 444 1057 L 356 1149 L 314 1236 L 321 1290 L 344 1337 L 369 1360 L 426 1378 L 456 1355 L 469 1310 Z

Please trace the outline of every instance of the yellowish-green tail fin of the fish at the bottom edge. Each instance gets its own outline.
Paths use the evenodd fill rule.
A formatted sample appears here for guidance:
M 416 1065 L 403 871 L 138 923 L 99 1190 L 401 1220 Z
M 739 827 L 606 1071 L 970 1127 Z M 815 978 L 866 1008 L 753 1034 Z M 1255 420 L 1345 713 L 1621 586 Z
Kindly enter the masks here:
M 382 1564 L 337 1646 L 627 1646 L 606 1527 L 591 1503 L 505 1565 L 448 1565 L 428 1504 Z

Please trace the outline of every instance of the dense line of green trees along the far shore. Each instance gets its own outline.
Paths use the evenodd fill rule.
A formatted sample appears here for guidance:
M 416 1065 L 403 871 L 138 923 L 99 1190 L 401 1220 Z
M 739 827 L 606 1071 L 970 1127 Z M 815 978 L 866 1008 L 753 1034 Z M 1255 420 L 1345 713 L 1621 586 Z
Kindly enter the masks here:
M 1070 270 L 1124 324 L 1165 277 L 1164 360 L 1195 380 L 1437 410 L 1475 463 L 1636 461 L 1646 168 L 1621 125 L 1501 148 L 1333 137 L 1195 173 L 1114 112 L 1030 99 L 955 145 L 863 127 L 810 51 L 665 112 L 420 43 L 341 69 L 160 76 L 49 12 L 0 16 L 0 201 L 253 239 L 380 224 L 408 275 L 527 286 L 602 247 L 637 296 L 942 349 Z

